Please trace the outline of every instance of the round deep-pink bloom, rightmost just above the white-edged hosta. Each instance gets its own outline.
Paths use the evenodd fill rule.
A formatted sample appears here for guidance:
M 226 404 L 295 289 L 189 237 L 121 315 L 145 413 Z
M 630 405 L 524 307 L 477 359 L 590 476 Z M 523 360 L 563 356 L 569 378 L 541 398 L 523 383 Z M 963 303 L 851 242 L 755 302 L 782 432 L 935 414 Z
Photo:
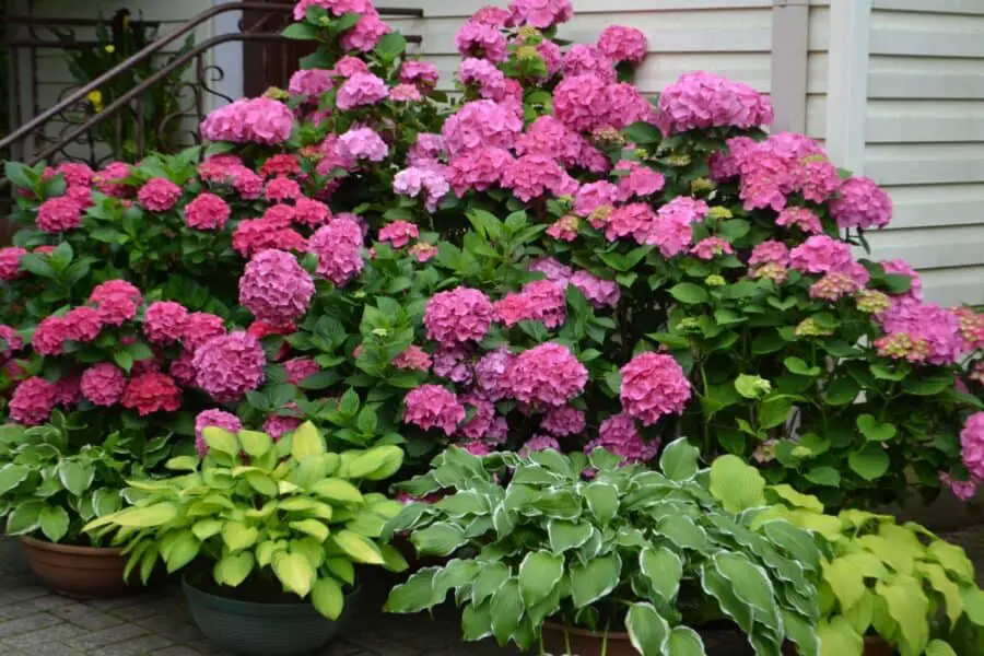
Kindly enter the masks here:
M 620 373 L 622 408 L 645 425 L 682 413 L 690 400 L 690 380 L 672 355 L 640 353 Z

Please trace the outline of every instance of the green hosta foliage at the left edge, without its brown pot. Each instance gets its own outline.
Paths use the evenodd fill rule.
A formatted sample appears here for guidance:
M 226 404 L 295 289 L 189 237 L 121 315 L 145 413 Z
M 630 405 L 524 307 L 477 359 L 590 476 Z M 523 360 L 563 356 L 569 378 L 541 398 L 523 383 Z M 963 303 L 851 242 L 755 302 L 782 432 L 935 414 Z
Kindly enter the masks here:
M 72 444 L 60 412 L 43 426 L 0 427 L 0 519 L 7 535 L 93 543 L 82 526 L 122 505 L 130 462 L 115 453 L 117 446 L 116 436 Z

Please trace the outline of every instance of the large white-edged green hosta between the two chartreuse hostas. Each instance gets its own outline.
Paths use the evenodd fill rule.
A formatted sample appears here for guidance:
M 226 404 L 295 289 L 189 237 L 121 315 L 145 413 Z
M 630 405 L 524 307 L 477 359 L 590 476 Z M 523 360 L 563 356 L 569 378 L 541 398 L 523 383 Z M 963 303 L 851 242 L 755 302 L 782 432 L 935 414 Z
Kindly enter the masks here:
M 751 508 L 765 505 L 754 470 L 734 456 L 700 470 L 683 440 L 659 471 L 619 464 L 602 449 L 442 454 L 407 488 L 448 495 L 408 505 L 387 531 L 410 531 L 421 554 L 456 558 L 394 588 L 386 608 L 417 612 L 454 590 L 466 640 L 541 652 L 548 620 L 626 630 L 647 656 L 704 654 L 694 629 L 731 620 L 762 656 L 786 641 L 819 654 L 821 552 L 789 522 L 752 528 Z

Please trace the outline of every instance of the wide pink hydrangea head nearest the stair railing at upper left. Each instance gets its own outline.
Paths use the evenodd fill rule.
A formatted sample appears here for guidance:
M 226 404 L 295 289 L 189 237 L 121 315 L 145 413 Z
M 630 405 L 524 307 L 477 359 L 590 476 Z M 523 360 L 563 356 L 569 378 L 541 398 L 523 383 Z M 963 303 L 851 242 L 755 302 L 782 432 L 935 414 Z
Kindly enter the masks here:
M 201 122 L 201 136 L 209 141 L 277 145 L 291 138 L 294 115 L 281 103 L 266 96 L 236 101 L 213 109 Z

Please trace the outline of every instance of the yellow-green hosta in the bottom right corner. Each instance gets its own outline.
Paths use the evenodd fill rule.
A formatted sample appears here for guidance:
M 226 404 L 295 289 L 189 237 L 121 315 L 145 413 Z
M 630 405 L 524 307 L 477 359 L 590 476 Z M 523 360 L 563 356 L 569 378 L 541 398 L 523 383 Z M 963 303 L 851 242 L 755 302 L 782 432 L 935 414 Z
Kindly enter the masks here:
M 846 509 L 823 515 L 812 496 L 785 495 L 755 523 L 783 518 L 829 543 L 823 560 L 823 656 L 854 656 L 878 634 L 902 656 L 984 654 L 984 591 L 962 549 L 918 524 Z

